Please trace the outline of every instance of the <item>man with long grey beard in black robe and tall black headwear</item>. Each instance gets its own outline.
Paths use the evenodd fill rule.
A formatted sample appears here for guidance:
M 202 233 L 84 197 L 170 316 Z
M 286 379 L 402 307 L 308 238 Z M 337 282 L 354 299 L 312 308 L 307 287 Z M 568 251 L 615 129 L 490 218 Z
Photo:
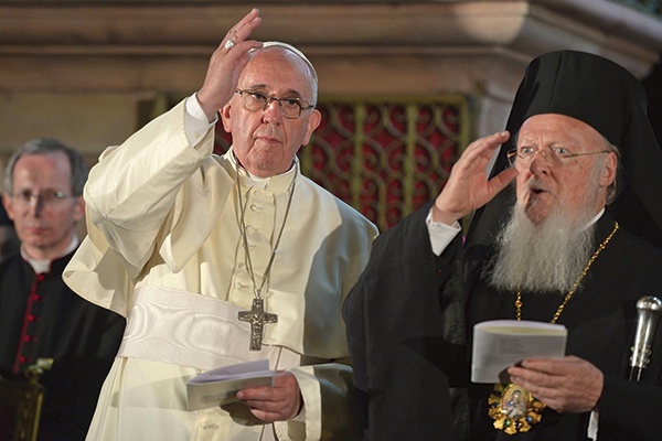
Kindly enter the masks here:
M 642 85 L 618 64 L 575 51 L 544 54 L 526 71 L 508 132 L 470 144 L 437 200 L 377 238 L 343 311 L 355 387 L 365 398 L 366 439 L 661 439 L 662 329 L 654 335 L 642 379 L 628 379 L 636 302 L 644 295 L 662 298 L 662 151 L 647 107 Z M 557 130 L 557 136 L 596 141 L 584 149 L 586 143 L 547 146 L 536 138 L 534 121 L 540 128 L 541 121 L 558 120 L 570 122 L 567 132 Z M 521 130 L 526 125 L 528 130 Z M 533 143 L 526 144 L 530 139 Z M 508 152 L 513 149 L 515 161 L 521 161 L 516 171 L 508 165 Z M 487 175 L 494 151 L 492 172 Z M 566 173 L 577 166 L 586 175 L 570 173 L 566 182 L 548 184 L 548 176 L 558 171 L 548 170 L 554 161 L 566 166 Z M 580 164 L 597 164 L 599 173 L 594 176 L 589 172 L 594 169 L 579 169 Z M 524 173 L 541 176 L 524 187 Z M 515 178 L 517 184 L 509 185 Z M 542 273 L 577 267 L 562 263 L 558 249 L 549 254 L 554 258 L 543 260 L 546 265 L 515 260 L 524 262 L 521 268 L 542 268 L 540 280 L 535 272 L 528 279 L 522 276 L 526 270 L 516 266 L 503 271 L 513 277 L 496 277 L 504 244 L 510 244 L 504 232 L 516 217 L 514 207 L 522 205 L 524 217 L 535 219 L 530 219 L 535 232 L 553 218 L 544 208 L 546 201 L 557 197 L 554 190 L 570 181 L 589 185 L 591 179 L 598 190 L 605 187 L 598 200 L 604 202 L 597 209 L 587 208 L 584 218 L 577 216 L 581 227 L 574 228 L 585 233 L 577 237 L 588 244 L 584 252 L 589 252 L 575 259 L 583 262 L 566 277 L 570 287 L 560 289 L 554 277 Z M 450 225 L 473 209 L 478 211 L 466 240 L 458 234 L 440 252 L 436 250 L 430 244 L 435 223 Z M 542 214 L 536 217 L 536 213 Z M 565 217 L 574 214 L 570 209 Z M 563 217 L 554 219 L 563 223 Z M 586 268 L 597 248 L 601 250 Z M 544 251 L 538 255 L 544 257 Z M 492 385 L 467 380 L 472 326 L 515 319 L 517 291 L 522 320 L 549 322 L 579 278 L 556 319 L 568 330 L 566 358 L 524 361 L 508 370 L 514 383 L 545 402 L 541 422 L 515 434 L 495 429 L 488 415 Z M 519 280 L 521 289 L 513 289 Z M 469 390 L 469 410 L 462 386 Z M 578 392 L 575 397 L 568 391 L 573 387 Z

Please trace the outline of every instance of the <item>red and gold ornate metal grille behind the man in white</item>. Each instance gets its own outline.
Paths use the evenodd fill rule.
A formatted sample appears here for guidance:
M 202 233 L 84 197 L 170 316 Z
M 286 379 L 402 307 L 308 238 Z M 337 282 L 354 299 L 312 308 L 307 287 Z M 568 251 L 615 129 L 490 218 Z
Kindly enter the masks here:
M 327 97 L 322 122 L 299 151 L 301 171 L 354 206 L 381 230 L 436 197 L 469 138 L 461 96 Z M 216 150 L 231 138 L 216 128 Z

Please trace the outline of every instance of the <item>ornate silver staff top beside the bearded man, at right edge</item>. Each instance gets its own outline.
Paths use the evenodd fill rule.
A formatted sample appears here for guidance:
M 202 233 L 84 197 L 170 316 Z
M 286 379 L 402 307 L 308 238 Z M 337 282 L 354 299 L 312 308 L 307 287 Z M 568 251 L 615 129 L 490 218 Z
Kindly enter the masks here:
M 651 361 L 655 327 L 662 312 L 662 301 L 656 297 L 645 295 L 637 301 L 637 334 L 630 357 L 630 380 L 639 381 L 643 369 Z

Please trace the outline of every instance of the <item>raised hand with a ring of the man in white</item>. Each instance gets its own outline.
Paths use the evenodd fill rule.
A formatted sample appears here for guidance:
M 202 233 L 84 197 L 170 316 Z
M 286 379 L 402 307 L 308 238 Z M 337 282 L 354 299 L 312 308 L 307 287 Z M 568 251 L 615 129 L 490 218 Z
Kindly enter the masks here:
M 197 100 L 210 121 L 235 93 L 239 75 L 250 60 L 248 51 L 261 47 L 261 42 L 246 40 L 260 22 L 259 11 L 253 9 L 227 31 L 212 54 L 206 77 L 197 92 Z

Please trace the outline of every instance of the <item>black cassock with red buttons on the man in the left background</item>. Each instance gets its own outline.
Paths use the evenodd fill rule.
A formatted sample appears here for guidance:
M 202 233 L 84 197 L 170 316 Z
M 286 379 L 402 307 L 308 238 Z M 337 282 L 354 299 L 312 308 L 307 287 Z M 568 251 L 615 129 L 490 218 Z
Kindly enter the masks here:
M 46 392 L 40 439 L 85 439 L 125 327 L 124 318 L 65 286 L 62 271 L 72 255 L 54 260 L 51 271 L 42 275 L 20 255 L 0 263 L 2 375 L 22 380 L 25 367 L 39 357 L 54 359 L 51 372 L 41 377 Z

